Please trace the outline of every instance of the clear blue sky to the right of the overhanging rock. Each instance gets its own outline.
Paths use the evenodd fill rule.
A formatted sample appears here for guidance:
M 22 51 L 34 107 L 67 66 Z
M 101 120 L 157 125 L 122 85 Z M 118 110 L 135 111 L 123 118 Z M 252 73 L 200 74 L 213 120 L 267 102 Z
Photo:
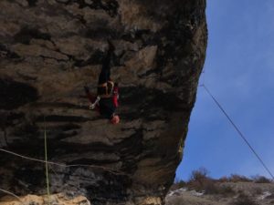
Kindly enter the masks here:
M 209 31 L 205 83 L 274 172 L 274 1 L 207 0 Z M 244 141 L 199 87 L 176 172 L 188 179 L 205 167 L 210 176 L 269 177 Z

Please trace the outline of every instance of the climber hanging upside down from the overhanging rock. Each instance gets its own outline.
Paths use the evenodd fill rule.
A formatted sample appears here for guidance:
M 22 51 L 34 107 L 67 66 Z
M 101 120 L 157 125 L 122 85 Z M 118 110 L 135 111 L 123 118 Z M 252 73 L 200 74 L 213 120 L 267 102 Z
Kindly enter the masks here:
M 109 49 L 107 55 L 103 58 L 102 67 L 100 71 L 97 97 L 90 94 L 89 87 L 84 87 L 86 96 L 90 100 L 90 109 L 96 109 L 104 118 L 109 118 L 112 124 L 118 124 L 120 118 L 115 114 L 118 108 L 118 83 L 111 81 L 111 58 L 113 58 L 115 47 L 108 40 Z

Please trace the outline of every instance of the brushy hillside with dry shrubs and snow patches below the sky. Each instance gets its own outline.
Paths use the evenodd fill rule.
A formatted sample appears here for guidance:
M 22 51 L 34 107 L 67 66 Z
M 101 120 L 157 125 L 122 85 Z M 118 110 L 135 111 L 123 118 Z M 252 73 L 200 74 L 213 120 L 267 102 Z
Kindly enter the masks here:
M 237 174 L 212 179 L 204 168 L 194 170 L 187 181 L 177 179 L 171 191 L 174 194 L 167 197 L 167 205 L 274 204 L 272 180 L 258 175 L 248 178 Z

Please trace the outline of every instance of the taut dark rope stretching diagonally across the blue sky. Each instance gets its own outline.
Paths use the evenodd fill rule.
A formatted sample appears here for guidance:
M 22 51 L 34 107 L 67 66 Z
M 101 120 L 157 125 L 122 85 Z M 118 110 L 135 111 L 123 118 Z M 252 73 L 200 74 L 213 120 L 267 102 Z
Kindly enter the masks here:
M 267 170 L 267 172 L 269 173 L 269 175 L 271 176 L 272 179 L 274 179 L 273 174 L 271 173 L 270 169 L 268 168 L 268 166 L 266 165 L 266 163 L 263 161 L 263 159 L 261 159 L 257 153 L 257 151 L 251 146 L 251 144 L 248 142 L 248 138 L 246 138 L 244 136 L 244 134 L 240 131 L 240 129 L 237 127 L 237 125 L 234 123 L 234 121 L 232 120 L 232 118 L 230 118 L 226 112 L 226 110 L 221 106 L 221 104 L 218 102 L 218 100 L 216 99 L 216 97 L 214 97 L 212 95 L 212 93 L 210 92 L 210 90 L 205 87 L 205 84 L 202 84 L 200 87 L 204 87 L 206 93 L 215 101 L 217 107 L 223 112 L 223 114 L 227 117 L 228 121 L 231 123 L 231 125 L 233 126 L 233 128 L 235 128 L 237 130 L 238 135 L 245 141 L 245 143 L 248 145 L 248 148 L 251 149 L 251 151 L 254 153 L 254 155 L 256 156 L 256 158 L 259 160 L 259 162 L 261 163 L 261 165 L 264 167 L 264 169 Z

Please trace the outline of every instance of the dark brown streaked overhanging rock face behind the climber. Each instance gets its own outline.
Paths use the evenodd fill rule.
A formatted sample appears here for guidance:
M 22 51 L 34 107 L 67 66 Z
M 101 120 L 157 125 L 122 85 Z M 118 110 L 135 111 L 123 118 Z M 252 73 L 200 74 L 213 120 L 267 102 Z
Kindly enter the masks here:
M 162 204 L 205 60 L 205 0 L 1 0 L 0 147 L 50 161 L 50 190 Z M 87 108 L 110 38 L 121 123 Z M 0 152 L 0 185 L 45 193 L 44 164 Z

